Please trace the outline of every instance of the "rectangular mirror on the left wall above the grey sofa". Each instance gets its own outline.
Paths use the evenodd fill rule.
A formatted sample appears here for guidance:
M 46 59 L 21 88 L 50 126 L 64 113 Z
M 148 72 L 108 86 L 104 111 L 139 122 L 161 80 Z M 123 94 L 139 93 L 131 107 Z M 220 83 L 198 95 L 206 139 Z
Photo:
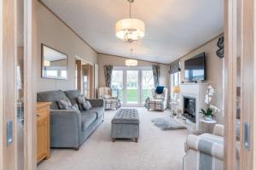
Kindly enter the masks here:
M 67 54 L 41 45 L 42 77 L 54 79 L 67 79 Z

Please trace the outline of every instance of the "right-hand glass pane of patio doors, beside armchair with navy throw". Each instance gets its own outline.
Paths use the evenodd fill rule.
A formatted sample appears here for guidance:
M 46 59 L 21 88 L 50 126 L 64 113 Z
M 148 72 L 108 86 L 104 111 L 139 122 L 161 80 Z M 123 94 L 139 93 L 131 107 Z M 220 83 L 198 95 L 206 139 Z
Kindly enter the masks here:
M 153 71 L 143 71 L 143 100 L 142 103 L 145 102 L 145 100 L 148 97 L 152 97 L 152 88 L 154 88 L 154 77 L 153 77 Z

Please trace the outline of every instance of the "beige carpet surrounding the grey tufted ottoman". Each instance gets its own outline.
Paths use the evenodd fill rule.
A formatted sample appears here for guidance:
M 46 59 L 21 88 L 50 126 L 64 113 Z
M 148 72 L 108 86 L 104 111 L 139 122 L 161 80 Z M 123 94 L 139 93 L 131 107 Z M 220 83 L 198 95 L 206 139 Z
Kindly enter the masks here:
M 138 143 L 110 139 L 111 119 L 116 111 L 106 111 L 102 122 L 89 139 L 76 150 L 51 150 L 51 157 L 39 170 L 179 170 L 182 169 L 187 130 L 162 131 L 151 119 L 168 118 L 168 111 L 138 108 Z

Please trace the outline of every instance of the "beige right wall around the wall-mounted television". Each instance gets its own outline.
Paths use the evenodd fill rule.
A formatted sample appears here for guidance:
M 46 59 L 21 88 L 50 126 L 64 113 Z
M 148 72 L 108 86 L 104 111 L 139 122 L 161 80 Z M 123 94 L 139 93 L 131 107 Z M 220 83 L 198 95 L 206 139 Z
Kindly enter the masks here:
M 218 37 L 213 39 L 211 42 L 207 42 L 207 44 L 203 45 L 201 48 L 197 48 L 190 54 L 187 54 L 181 58 L 181 81 L 184 81 L 184 60 L 194 57 L 197 54 L 201 54 L 203 52 L 206 53 L 206 61 L 207 61 L 207 82 L 212 85 L 212 88 L 216 89 L 217 94 L 212 100 L 212 104 L 223 108 L 223 65 L 224 59 L 218 58 L 216 51 Z M 223 112 L 219 113 L 218 122 L 223 122 Z

